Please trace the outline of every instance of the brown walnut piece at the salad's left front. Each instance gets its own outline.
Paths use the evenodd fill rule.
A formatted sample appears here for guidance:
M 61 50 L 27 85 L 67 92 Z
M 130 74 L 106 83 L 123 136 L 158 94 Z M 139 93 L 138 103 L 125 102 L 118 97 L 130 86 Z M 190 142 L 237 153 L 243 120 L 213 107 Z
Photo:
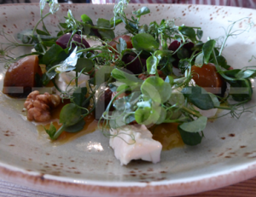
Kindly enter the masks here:
M 45 92 L 40 95 L 38 90 L 32 91 L 24 103 L 28 120 L 35 120 L 37 122 L 45 122 L 50 119 L 50 110 L 57 107 L 61 103 L 61 97 L 57 95 L 50 95 Z

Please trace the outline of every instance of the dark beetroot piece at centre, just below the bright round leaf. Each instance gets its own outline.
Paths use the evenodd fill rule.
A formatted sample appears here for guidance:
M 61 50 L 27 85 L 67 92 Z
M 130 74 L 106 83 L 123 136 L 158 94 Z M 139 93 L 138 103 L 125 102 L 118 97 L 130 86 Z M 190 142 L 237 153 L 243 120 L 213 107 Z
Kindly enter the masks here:
M 136 57 L 132 55 L 124 55 L 122 61 L 125 62 L 125 64 L 130 63 L 133 61 Z M 129 71 L 131 71 L 133 74 L 140 74 L 143 72 L 143 70 L 146 70 L 146 60 L 141 58 L 141 61 L 143 63 L 143 67 L 141 65 L 141 62 L 137 58 L 135 61 L 133 61 L 131 64 L 127 65 L 125 68 Z

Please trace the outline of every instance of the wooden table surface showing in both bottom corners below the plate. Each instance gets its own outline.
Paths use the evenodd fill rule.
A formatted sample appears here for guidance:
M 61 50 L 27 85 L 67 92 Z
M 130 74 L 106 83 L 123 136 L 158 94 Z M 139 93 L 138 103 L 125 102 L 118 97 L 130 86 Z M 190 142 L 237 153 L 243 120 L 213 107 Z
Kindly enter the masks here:
M 47 191 L 38 191 L 32 188 L 26 188 L 14 183 L 8 183 L 0 180 L 0 197 L 74 197 L 62 194 L 51 194 Z M 255 197 L 256 196 L 256 177 L 242 183 L 237 183 L 225 188 L 219 188 L 201 194 L 187 195 L 188 197 Z

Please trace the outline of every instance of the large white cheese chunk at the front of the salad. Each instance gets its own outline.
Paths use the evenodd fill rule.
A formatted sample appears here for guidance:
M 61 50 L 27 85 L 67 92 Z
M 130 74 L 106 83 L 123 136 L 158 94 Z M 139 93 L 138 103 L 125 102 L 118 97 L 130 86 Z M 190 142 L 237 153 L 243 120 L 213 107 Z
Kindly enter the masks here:
M 143 159 L 153 163 L 160 161 L 162 145 L 152 139 L 153 135 L 145 125 L 125 125 L 110 130 L 110 134 L 117 135 L 110 138 L 109 145 L 121 165 L 127 165 L 132 159 Z

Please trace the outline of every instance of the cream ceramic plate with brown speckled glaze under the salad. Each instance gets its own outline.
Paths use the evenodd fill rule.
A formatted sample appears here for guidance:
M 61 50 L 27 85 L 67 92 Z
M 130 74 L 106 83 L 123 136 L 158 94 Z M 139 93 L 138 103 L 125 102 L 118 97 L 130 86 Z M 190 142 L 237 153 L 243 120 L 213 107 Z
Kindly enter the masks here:
M 142 6 L 131 4 L 126 13 L 131 15 L 132 10 Z M 177 25 L 201 26 L 203 40 L 224 35 L 222 27 L 228 26 L 229 20 L 256 15 L 253 9 L 202 5 L 150 4 L 148 8 L 151 14 L 143 16 L 142 22 L 176 18 Z M 67 9 L 72 9 L 78 19 L 80 14 L 95 20 L 110 19 L 113 14 L 113 5 L 61 4 L 58 15 L 45 20 L 51 24 L 51 32 L 57 28 L 58 20 L 64 21 Z M 39 6 L 1 5 L 0 15 L 0 27 L 16 35 L 36 24 Z M 245 21 L 241 20 L 237 28 L 244 26 Z M 255 55 L 255 41 L 255 26 L 238 38 L 230 38 L 224 50 L 228 63 L 232 67 L 255 65 L 254 60 L 248 63 Z M 24 53 L 24 49 L 14 52 Z M 3 87 L 5 71 L 0 69 Z M 253 96 L 249 105 L 255 103 Z M 255 109 L 239 120 L 226 116 L 209 122 L 201 145 L 162 152 L 158 164 L 133 161 L 121 166 L 108 147 L 108 138 L 100 131 L 57 146 L 38 136 L 36 127 L 21 118 L 20 105 L 21 101 L 14 102 L 1 93 L 0 176 L 10 182 L 79 196 L 174 196 L 220 188 L 256 176 Z

